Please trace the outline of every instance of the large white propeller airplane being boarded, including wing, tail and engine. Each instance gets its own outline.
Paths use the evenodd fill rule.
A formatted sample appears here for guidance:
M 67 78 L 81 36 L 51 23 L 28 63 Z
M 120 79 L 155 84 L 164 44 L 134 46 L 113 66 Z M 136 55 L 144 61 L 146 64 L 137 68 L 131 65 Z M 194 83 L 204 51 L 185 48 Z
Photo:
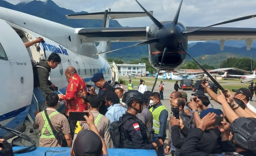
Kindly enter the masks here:
M 95 14 L 66 15 L 68 19 L 103 19 L 102 28 L 71 28 L 0 7 L 0 72 L 2 73 L 0 80 L 3 82 L 0 88 L 0 124 L 30 136 L 36 135 L 33 127 L 31 128 L 33 121 L 29 120 L 28 115 L 31 99 L 34 98 L 33 71 L 24 42 L 31 41 L 38 36 L 43 37 L 45 43 L 31 47 L 34 60 L 38 62 L 46 59 L 52 52 L 61 56 L 61 64 L 52 70 L 50 75 L 51 81 L 60 88 L 58 92 L 61 93 L 65 93 L 68 84 L 64 71 L 70 65 L 77 69 L 87 84 L 93 84 L 90 79 L 97 72 L 103 72 L 107 81 L 113 81 L 113 75 L 115 79 L 118 78 L 118 74 L 113 74 L 118 71 L 112 71 L 117 67 L 111 68 L 105 59 L 105 53 L 116 51 L 110 50 L 110 42 L 143 41 L 124 48 L 148 44 L 149 62 L 159 72 L 160 69 L 172 70 L 180 67 L 186 55 L 193 59 L 187 51 L 188 41 L 220 40 L 221 45 L 224 45 L 224 41 L 229 39 L 246 40 L 246 46 L 249 49 L 252 40 L 256 39 L 255 28 L 212 27 L 250 19 L 255 15 L 206 27 L 191 27 L 178 22 L 182 0 L 173 21 L 162 22 L 155 19 L 152 12 L 148 12 L 137 0 L 136 2 L 144 10 L 143 13 L 110 12 L 106 9 L 105 12 Z M 120 19 L 145 15 L 153 21 L 149 27 L 108 28 L 109 18 Z M 95 42 L 100 42 L 100 44 L 96 47 Z M 205 70 L 204 72 L 207 74 Z M 210 76 L 208 74 L 207 76 Z M 214 80 L 212 81 L 215 83 Z M 1 138 L 8 139 L 12 136 L 7 131 L 0 130 Z

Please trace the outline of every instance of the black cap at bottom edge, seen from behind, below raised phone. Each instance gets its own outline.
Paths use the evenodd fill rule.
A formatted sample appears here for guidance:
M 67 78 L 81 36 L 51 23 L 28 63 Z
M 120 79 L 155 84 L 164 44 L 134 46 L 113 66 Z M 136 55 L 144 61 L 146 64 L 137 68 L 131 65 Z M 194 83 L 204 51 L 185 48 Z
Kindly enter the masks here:
M 102 142 L 95 132 L 83 129 L 77 134 L 73 149 L 76 156 L 100 156 L 102 153 Z

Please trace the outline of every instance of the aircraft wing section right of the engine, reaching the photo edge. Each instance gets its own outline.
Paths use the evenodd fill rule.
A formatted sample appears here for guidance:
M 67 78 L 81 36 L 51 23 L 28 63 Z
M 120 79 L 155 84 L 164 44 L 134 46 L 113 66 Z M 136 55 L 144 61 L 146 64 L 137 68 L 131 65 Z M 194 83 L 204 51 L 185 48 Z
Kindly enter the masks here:
M 187 30 L 202 27 L 187 26 Z M 256 28 L 209 27 L 188 34 L 188 41 L 256 39 Z

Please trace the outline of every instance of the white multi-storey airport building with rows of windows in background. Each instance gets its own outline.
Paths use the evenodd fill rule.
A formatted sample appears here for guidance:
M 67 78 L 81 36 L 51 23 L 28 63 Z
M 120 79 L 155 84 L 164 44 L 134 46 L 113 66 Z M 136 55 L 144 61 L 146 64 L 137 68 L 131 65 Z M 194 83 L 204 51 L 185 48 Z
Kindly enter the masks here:
M 146 76 L 146 64 L 116 64 L 118 68 L 118 73 L 120 77 L 131 76 L 131 75 L 141 75 Z

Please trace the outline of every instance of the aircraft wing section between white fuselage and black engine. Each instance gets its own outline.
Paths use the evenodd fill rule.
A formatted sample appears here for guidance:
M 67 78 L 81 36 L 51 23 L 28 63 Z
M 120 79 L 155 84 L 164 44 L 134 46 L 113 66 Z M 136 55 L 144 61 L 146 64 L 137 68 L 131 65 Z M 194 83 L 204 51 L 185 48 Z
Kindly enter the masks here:
M 149 27 L 82 28 L 79 35 L 87 42 L 142 42 L 147 40 Z

